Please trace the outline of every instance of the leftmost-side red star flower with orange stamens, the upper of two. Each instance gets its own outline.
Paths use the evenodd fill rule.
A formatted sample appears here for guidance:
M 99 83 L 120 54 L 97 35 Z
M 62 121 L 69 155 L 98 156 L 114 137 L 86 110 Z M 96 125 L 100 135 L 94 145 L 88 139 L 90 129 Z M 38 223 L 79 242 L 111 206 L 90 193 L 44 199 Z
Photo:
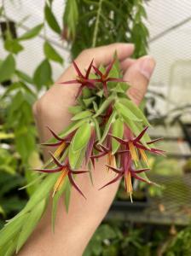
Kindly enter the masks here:
M 56 143 L 41 143 L 41 145 L 43 146 L 49 146 L 49 147 L 57 147 L 58 148 L 55 150 L 54 156 L 58 157 L 59 155 L 61 155 L 61 153 L 67 148 L 67 146 L 69 145 L 69 143 L 71 142 L 72 139 L 72 135 L 74 132 L 70 133 L 67 137 L 65 138 L 61 138 L 59 137 L 57 134 L 55 134 L 55 131 L 52 131 L 49 126 L 47 126 L 47 128 L 49 129 L 50 133 L 52 134 L 53 137 L 55 137 L 55 139 L 57 140 Z

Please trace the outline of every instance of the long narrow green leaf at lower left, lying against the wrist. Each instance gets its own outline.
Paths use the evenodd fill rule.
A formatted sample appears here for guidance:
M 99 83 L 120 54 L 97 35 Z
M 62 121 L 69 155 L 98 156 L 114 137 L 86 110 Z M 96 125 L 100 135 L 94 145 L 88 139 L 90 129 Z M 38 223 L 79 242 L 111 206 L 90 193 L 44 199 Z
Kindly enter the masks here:
M 45 200 L 40 201 L 38 205 L 32 210 L 32 212 L 28 213 L 27 221 L 23 224 L 20 231 L 20 236 L 16 247 L 16 253 L 20 251 L 20 248 L 24 245 L 28 237 L 32 234 L 32 231 L 37 226 L 39 219 L 43 215 L 45 205 Z

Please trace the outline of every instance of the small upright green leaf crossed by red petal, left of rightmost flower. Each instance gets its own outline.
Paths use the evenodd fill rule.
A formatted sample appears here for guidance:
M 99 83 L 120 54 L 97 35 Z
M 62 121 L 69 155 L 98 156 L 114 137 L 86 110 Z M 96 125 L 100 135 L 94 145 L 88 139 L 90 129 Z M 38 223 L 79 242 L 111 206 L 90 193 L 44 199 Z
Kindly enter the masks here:
M 121 119 L 116 119 L 112 125 L 112 135 L 122 138 L 124 135 L 124 122 Z M 115 154 L 119 149 L 120 143 L 112 138 L 112 153 Z

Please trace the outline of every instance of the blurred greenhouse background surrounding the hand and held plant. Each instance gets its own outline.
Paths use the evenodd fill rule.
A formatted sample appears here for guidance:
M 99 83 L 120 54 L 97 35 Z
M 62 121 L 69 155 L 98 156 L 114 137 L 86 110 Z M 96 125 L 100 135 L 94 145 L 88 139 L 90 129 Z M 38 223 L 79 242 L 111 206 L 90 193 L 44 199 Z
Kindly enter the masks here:
M 161 187 L 123 184 L 84 253 L 191 255 L 191 3 L 189 0 L 0 0 L 0 227 L 25 206 L 40 166 L 32 104 L 92 46 L 136 45 L 157 62 L 145 102 L 151 137 L 166 158 L 150 157 Z

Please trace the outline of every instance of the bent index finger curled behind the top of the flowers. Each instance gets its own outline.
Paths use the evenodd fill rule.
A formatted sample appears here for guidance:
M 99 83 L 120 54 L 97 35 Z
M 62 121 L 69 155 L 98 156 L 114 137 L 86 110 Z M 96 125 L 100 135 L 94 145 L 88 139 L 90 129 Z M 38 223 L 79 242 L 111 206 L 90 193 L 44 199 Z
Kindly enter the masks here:
M 80 67 L 87 67 L 90 65 L 90 61 L 94 59 L 96 66 L 100 64 L 107 66 L 113 61 L 113 55 L 117 52 L 119 61 L 123 61 L 127 57 L 133 54 L 134 44 L 109 44 L 93 49 L 85 49 L 80 55 L 78 55 L 77 62 L 80 62 Z

